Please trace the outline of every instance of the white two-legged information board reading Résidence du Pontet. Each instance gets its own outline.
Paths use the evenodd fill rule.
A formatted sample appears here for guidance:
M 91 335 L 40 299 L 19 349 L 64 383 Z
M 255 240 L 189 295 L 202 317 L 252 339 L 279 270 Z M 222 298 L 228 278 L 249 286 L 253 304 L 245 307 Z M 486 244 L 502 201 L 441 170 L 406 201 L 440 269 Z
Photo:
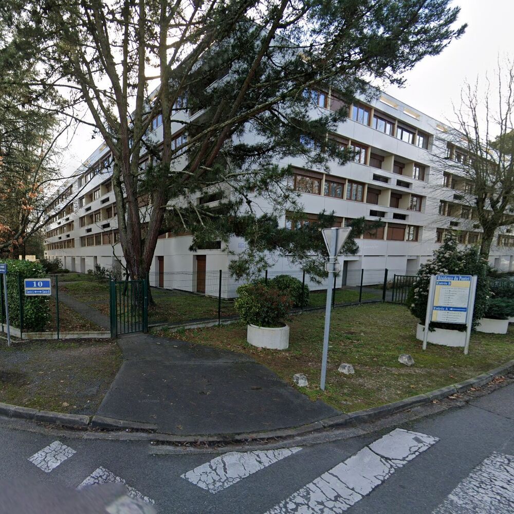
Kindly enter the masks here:
M 436 321 L 438 323 L 466 325 L 464 355 L 468 354 L 475 293 L 475 276 L 432 275 L 430 277 L 423 350 L 427 349 L 428 327 L 430 322 Z

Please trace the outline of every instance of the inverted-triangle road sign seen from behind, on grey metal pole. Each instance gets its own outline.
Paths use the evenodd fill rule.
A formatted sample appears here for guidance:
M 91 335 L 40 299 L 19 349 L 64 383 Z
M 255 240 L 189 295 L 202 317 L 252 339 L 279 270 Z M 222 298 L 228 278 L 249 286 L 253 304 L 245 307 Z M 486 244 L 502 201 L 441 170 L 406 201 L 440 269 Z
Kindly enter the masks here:
M 335 285 L 336 273 L 339 271 L 336 262 L 337 256 L 350 235 L 351 227 L 342 228 L 324 228 L 322 230 L 323 239 L 325 240 L 326 249 L 328 250 L 328 262 L 325 264 L 325 271 L 328 272 L 328 282 L 326 286 L 326 305 L 325 305 L 325 330 L 323 332 L 323 355 L 321 357 L 321 380 L 320 389 L 325 390 L 326 381 L 326 363 L 328 359 L 328 335 L 330 333 L 330 316 L 332 309 L 332 292 Z

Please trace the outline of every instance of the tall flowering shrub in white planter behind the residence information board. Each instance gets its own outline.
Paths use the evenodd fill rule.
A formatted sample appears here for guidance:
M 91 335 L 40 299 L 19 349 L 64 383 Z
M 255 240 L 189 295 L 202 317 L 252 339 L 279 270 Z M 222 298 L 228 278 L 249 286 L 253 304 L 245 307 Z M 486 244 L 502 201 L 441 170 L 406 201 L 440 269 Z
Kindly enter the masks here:
M 420 321 L 416 329 L 416 338 L 422 341 L 425 333 L 424 324 L 431 275 L 446 273 L 476 275 L 478 280 L 472 320 L 472 327 L 475 328 L 485 314 L 491 294 L 487 269 L 487 262 L 481 258 L 477 247 L 459 250 L 455 236 L 447 233 L 444 242 L 434 251 L 433 259 L 419 267 L 418 278 L 409 291 L 411 313 Z M 465 325 L 431 322 L 428 329 L 430 343 L 445 346 L 464 346 L 466 343 Z

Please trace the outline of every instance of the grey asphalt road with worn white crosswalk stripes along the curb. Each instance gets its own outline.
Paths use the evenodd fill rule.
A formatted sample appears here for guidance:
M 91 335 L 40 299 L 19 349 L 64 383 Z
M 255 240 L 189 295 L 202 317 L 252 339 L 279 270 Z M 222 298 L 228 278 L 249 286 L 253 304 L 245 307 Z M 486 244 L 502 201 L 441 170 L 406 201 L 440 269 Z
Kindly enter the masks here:
M 251 452 L 176 454 L 0 421 L 0 512 L 512 514 L 513 420 L 514 385 L 372 434 Z M 115 480 L 137 505 L 113 500 L 120 485 L 94 485 Z M 77 507 L 102 494 L 111 494 L 104 506 Z M 75 507 L 59 510 L 56 498 Z

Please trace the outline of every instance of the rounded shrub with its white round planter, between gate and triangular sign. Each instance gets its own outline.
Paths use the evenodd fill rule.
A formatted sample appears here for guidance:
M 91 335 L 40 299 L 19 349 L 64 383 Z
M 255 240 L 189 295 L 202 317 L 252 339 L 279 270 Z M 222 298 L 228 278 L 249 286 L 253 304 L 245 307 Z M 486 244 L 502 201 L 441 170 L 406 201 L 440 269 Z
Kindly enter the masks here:
M 289 326 L 284 322 L 292 302 L 272 285 L 245 284 L 237 288 L 235 309 L 247 324 L 246 340 L 259 348 L 285 350 Z

